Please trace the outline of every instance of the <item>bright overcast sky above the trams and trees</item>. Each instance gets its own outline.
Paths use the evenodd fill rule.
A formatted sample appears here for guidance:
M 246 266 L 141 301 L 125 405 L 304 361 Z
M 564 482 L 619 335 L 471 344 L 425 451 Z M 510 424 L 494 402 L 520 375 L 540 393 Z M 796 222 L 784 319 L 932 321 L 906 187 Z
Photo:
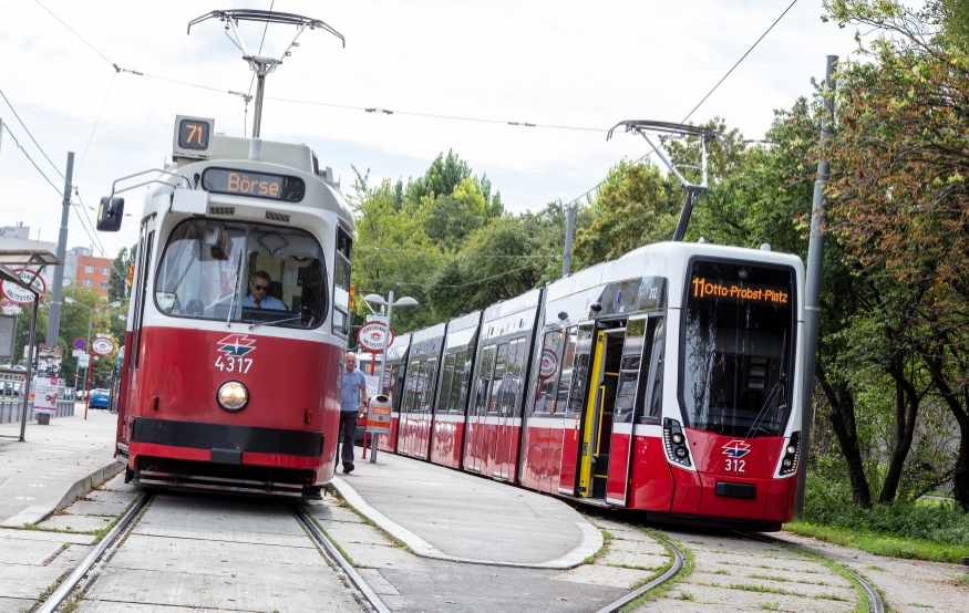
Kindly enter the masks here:
M 245 105 L 228 93 L 249 90 L 241 53 L 218 21 L 203 22 L 190 34 L 186 25 L 206 10 L 269 9 L 270 0 L 41 3 L 107 60 L 35 1 L 0 0 L 0 90 L 56 170 L 75 152 L 74 183 L 87 206 L 96 206 L 114 179 L 157 168 L 171 156 L 178 113 L 214 117 L 216 132 L 243 135 Z M 788 4 L 278 0 L 275 10 L 327 22 L 347 46 L 322 30 L 303 33 L 292 56 L 267 79 L 262 137 L 307 143 L 347 191 L 351 165 L 370 169 L 372 181 L 406 179 L 453 148 L 475 173 L 492 178 L 507 209 L 537 209 L 577 197 L 623 156 L 647 153 L 645 142 L 625 134 L 607 143 L 605 131 L 629 118 L 683 120 Z M 691 121 L 719 115 L 748 138 L 762 137 L 773 110 L 810 95 L 825 55 L 854 51 L 854 32 L 823 23 L 822 12 L 819 0 L 800 0 Z M 241 32 L 258 48 L 261 27 L 244 25 Z M 293 33 L 292 27 L 270 27 L 262 54 L 278 54 Z M 111 63 L 144 76 L 115 73 Z M 250 105 L 248 129 L 251 117 Z M 56 240 L 63 179 L 2 98 L 0 118 L 58 186 L 55 191 L 48 185 L 4 134 L 0 226 L 23 221 L 33 237 L 40 229 L 41 239 Z M 110 257 L 136 240 L 141 191 L 128 194 L 126 206 L 135 215 L 122 231 L 100 235 Z M 90 243 L 72 214 L 69 247 Z

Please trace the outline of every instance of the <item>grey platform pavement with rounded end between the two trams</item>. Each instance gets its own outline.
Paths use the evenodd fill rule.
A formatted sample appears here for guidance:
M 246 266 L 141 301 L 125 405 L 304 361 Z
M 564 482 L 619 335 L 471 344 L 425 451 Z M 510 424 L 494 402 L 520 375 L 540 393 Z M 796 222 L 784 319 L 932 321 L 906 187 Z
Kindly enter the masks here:
M 333 479 L 340 495 L 424 558 L 568 569 L 602 547 L 599 530 L 550 496 L 388 453 L 355 468 Z

